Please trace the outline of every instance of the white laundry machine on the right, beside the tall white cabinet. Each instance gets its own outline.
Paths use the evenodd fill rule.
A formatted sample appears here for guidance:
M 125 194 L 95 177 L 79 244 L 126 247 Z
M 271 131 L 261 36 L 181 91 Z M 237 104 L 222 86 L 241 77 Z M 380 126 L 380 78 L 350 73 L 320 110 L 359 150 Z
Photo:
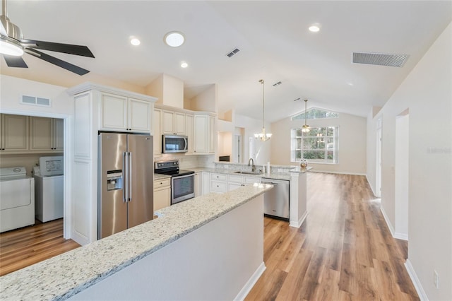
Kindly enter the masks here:
M 64 215 L 64 157 L 41 157 L 33 168 L 35 177 L 35 216 L 42 223 Z

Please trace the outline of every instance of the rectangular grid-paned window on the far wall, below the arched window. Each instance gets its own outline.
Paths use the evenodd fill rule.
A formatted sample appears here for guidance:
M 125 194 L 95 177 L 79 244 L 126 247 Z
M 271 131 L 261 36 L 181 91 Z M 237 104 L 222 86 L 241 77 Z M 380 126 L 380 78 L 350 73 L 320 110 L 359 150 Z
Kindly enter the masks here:
M 307 133 L 298 128 L 291 132 L 292 162 L 304 158 L 309 163 L 338 163 L 338 126 L 314 127 Z

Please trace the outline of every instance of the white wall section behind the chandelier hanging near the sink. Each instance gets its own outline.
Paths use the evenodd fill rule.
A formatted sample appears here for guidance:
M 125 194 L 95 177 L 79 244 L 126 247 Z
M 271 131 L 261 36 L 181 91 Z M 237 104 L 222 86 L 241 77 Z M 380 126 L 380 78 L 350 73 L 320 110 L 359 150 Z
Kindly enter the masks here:
M 270 141 L 257 141 L 254 138 L 254 134 L 261 133 L 262 131 L 262 120 L 253 119 L 243 115 L 235 114 L 234 116 L 234 126 L 244 128 L 243 137 L 243 158 L 242 163 L 248 163 L 249 156 L 249 138 L 251 137 L 254 142 L 254 164 L 256 165 L 266 165 L 270 160 L 270 144 L 273 142 L 273 129 L 270 124 L 266 124 L 266 132 L 272 133 L 273 136 Z M 274 164 L 273 162 L 271 162 Z

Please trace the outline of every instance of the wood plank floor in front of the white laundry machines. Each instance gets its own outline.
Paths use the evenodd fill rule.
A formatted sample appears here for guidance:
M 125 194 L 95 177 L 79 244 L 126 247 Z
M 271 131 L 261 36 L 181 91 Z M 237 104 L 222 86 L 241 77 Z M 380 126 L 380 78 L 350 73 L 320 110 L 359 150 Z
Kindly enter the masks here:
M 63 219 L 0 234 L 0 276 L 80 247 L 63 238 Z

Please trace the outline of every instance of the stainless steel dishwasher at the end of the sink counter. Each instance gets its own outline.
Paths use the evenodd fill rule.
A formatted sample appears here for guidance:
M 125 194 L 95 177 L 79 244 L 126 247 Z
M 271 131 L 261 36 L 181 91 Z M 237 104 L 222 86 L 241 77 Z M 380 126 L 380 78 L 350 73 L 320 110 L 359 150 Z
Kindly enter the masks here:
M 262 178 L 262 183 L 274 187 L 263 195 L 263 213 L 270 218 L 289 220 L 289 181 Z

